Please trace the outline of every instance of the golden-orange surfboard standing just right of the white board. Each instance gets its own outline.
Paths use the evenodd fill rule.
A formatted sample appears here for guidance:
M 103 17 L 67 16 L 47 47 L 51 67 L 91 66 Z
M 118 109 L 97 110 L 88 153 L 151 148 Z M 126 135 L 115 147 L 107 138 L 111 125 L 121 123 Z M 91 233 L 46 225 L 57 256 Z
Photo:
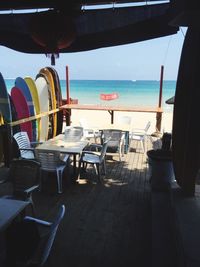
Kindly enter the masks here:
M 54 86 L 53 76 L 52 76 L 51 72 L 47 68 L 40 69 L 39 74 L 45 75 L 45 77 L 48 80 L 50 94 L 51 94 L 51 106 L 52 106 L 52 109 L 56 109 L 56 94 L 55 94 L 55 86 Z M 53 129 L 52 129 L 53 131 L 52 131 L 52 134 L 53 134 L 53 137 L 55 137 L 56 133 L 57 133 L 57 113 L 54 113 L 52 115 L 52 117 L 53 117 Z

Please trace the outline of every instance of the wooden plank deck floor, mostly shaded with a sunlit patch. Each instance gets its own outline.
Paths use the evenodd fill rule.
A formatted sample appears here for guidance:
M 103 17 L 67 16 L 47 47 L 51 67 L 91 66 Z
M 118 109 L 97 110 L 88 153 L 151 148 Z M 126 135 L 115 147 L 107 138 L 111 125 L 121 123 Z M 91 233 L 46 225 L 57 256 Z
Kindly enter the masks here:
M 148 140 L 147 149 L 151 148 Z M 66 206 L 45 266 L 151 266 L 151 191 L 146 154 L 132 142 L 124 160 L 117 158 L 108 159 L 103 184 L 97 183 L 92 169 L 81 174 L 79 184 L 72 184 L 66 172 L 63 194 L 55 193 L 55 177 L 48 177 L 48 187 L 43 186 L 46 190 L 34 194 L 40 218 L 51 219 L 59 205 Z

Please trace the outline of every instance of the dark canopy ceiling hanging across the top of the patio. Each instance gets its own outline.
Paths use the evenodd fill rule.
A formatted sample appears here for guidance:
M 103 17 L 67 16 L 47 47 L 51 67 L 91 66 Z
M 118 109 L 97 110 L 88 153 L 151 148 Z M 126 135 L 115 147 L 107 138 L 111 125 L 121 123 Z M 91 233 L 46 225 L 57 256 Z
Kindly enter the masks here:
M 117 6 L 117 3 L 135 3 Z M 105 0 L 0 1 L 0 45 L 25 53 L 79 52 L 175 34 L 166 1 L 115 1 L 110 8 L 87 9 Z M 110 2 L 109 2 L 110 3 Z M 81 8 L 84 5 L 85 8 Z M 95 7 L 95 6 L 94 6 Z M 40 8 L 47 8 L 41 11 Z M 20 9 L 20 13 L 15 12 Z M 30 10 L 29 13 L 23 9 Z

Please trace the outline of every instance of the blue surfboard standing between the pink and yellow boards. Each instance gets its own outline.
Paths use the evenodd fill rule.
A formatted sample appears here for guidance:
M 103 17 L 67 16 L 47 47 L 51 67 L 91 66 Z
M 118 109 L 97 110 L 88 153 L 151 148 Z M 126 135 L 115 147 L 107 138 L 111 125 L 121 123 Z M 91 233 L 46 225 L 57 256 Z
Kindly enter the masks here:
M 27 105 L 29 108 L 30 116 L 35 116 L 35 108 L 34 108 L 34 104 L 33 104 L 33 99 L 32 99 L 29 87 L 26 84 L 25 80 L 21 77 L 17 77 L 15 79 L 15 86 L 17 88 L 19 88 L 22 91 L 22 93 L 24 94 L 25 100 L 27 101 Z M 31 121 L 31 123 L 32 123 L 33 134 L 32 134 L 32 139 L 30 139 L 30 141 L 36 141 L 36 139 L 37 139 L 36 120 Z

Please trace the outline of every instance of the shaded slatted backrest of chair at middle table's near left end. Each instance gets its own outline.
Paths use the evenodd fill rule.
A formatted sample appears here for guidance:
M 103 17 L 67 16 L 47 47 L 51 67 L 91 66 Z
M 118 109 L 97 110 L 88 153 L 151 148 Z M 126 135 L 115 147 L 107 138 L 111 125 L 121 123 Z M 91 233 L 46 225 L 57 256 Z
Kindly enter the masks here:
M 36 159 L 41 164 L 41 169 L 55 171 L 60 162 L 60 152 L 47 149 L 36 149 Z

